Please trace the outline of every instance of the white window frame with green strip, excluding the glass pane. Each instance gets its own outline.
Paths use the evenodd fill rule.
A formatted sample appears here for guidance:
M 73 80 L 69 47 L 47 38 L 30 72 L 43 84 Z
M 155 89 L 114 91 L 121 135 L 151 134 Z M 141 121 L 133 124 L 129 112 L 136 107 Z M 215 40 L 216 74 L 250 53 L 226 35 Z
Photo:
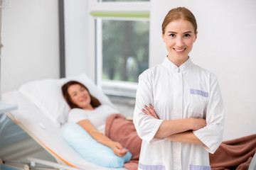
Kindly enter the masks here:
M 131 2 L 98 2 L 90 0 L 88 4 L 89 17 L 89 49 L 90 49 L 90 70 L 92 77 L 95 77 L 95 83 L 102 89 L 105 94 L 113 96 L 126 96 L 135 98 L 137 91 L 137 82 L 128 81 L 102 81 L 102 52 L 98 47 L 102 47 L 102 43 L 97 41 L 96 33 L 100 33 L 96 27 L 97 22 L 101 19 L 117 20 L 117 21 L 149 21 L 150 1 L 131 1 Z M 98 23 L 99 24 L 99 23 Z M 96 32 L 97 28 L 97 32 Z M 101 48 L 102 49 L 102 48 Z M 96 56 L 97 55 L 97 56 Z M 102 87 L 105 87 L 104 88 Z M 107 90 L 106 90 L 107 88 Z

